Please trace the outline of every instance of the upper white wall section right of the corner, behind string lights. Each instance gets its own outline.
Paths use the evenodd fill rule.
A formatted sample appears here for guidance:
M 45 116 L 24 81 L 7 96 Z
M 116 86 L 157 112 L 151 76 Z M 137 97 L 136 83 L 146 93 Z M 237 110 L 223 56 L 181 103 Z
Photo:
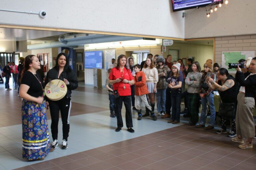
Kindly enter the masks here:
M 205 8 L 187 10 L 185 38 L 255 34 L 255 7 L 255 0 L 232 0 L 228 5 L 223 4 L 209 18 L 206 17 Z

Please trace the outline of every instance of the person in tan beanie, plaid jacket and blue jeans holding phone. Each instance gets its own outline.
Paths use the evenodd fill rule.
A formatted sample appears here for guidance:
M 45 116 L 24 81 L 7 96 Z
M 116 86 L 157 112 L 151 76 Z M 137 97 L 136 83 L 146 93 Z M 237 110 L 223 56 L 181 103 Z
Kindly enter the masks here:
M 207 110 L 207 102 L 209 103 L 210 107 L 210 122 L 208 126 L 204 129 L 209 130 L 214 128 L 215 123 L 215 107 L 214 107 L 214 100 L 213 100 L 213 91 L 208 87 L 207 78 L 213 78 L 216 81 L 214 73 L 212 72 L 212 64 L 210 62 L 206 62 L 204 64 L 204 72 L 202 75 L 202 82 L 200 85 L 200 97 L 201 97 L 201 104 L 202 104 L 202 111 L 200 116 L 199 124 L 196 126 L 197 128 L 205 127 L 205 120 L 206 120 L 206 110 Z

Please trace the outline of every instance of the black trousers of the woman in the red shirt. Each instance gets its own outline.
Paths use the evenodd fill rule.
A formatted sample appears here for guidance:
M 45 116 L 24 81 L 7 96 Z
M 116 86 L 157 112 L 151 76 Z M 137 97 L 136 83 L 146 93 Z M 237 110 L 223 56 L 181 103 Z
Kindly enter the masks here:
M 127 128 L 132 128 L 132 111 L 131 111 L 131 96 L 119 96 L 116 98 L 116 107 L 115 107 L 115 114 L 117 119 L 117 127 L 123 127 L 123 119 L 122 119 L 122 106 L 124 102 L 125 106 L 125 122 Z

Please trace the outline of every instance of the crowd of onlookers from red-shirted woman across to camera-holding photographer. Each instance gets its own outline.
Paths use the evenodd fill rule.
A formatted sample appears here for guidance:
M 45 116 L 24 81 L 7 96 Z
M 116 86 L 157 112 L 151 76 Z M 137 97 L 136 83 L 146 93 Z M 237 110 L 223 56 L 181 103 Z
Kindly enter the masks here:
M 190 118 L 189 125 L 206 130 L 213 129 L 216 114 L 219 112 L 214 105 L 214 94 L 216 94 L 220 96 L 220 109 L 231 108 L 226 112 L 233 113 L 219 116 L 222 124 L 216 133 L 227 133 L 227 122 L 230 121 L 231 130 L 228 136 L 233 137 L 231 140 L 241 143 L 239 148 L 252 148 L 252 138 L 256 137 L 253 119 L 256 57 L 239 60 L 243 68 L 242 70 L 240 67 L 236 68 L 235 78 L 228 73 L 227 69 L 220 68 L 218 63 L 213 64 L 211 59 L 206 60 L 203 70 L 199 62 L 191 58 L 187 60 L 187 66 L 185 66 L 182 59 L 172 61 L 171 55 L 163 58 L 163 56 L 153 57 L 152 54 L 148 54 L 147 59 L 141 64 L 133 65 L 133 63 L 132 57 L 127 59 L 125 55 L 120 55 L 117 66 L 108 70 L 109 78 L 106 80 L 106 87 L 112 96 L 109 97 L 110 117 L 117 117 L 116 131 L 120 131 L 123 127 L 122 102 L 126 108 L 126 126 L 129 132 L 134 132 L 131 107 L 133 111 L 138 112 L 137 120 L 150 116 L 153 121 L 156 121 L 155 96 L 157 115 L 161 118 L 169 118 L 168 123 L 180 123 L 180 115 L 184 114 L 184 117 Z M 137 108 L 135 108 L 134 95 Z M 183 113 L 181 112 L 182 98 L 185 101 Z M 141 103 L 145 105 L 144 114 Z M 205 126 L 208 114 L 209 123 Z

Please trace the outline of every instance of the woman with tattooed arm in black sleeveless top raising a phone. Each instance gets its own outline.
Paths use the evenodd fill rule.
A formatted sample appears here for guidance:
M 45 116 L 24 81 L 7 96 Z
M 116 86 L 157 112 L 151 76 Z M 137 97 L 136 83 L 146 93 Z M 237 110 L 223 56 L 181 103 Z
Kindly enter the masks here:
M 207 83 L 211 90 L 219 90 L 220 98 L 224 104 L 234 104 L 236 106 L 237 97 L 237 83 L 231 75 L 229 75 L 226 68 L 220 68 L 217 72 L 218 83 L 216 83 L 212 78 L 207 77 Z M 235 108 L 234 108 L 235 109 Z M 234 110 L 235 113 L 235 110 Z M 231 119 L 231 131 L 229 132 L 229 137 L 236 136 L 236 118 L 222 116 L 221 128 L 216 131 L 217 134 L 227 133 L 226 122 Z

